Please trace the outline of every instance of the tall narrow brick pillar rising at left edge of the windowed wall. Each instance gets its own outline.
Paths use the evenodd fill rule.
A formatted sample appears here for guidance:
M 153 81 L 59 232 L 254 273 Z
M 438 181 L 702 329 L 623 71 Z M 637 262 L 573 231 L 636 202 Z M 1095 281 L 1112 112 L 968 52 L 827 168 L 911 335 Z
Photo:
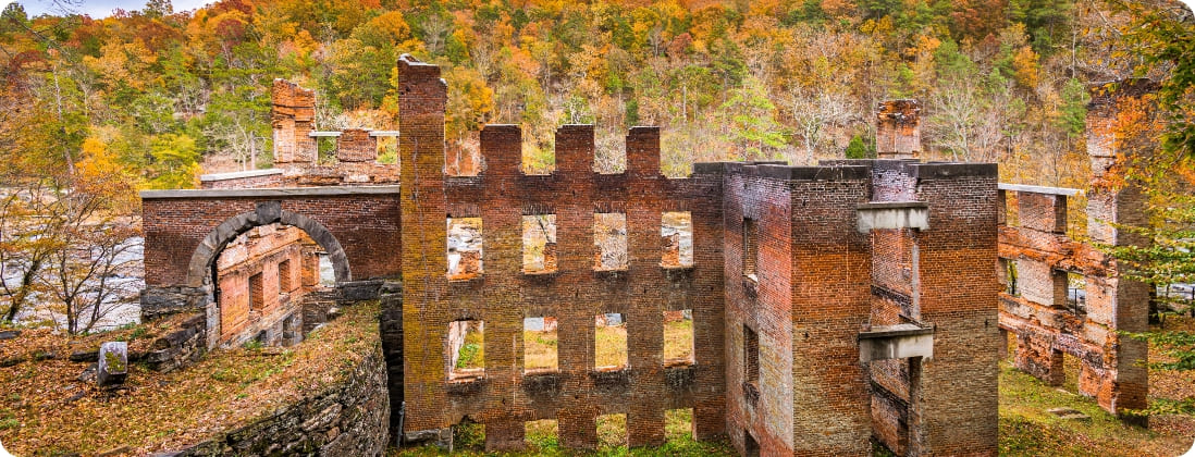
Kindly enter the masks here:
M 398 138 L 403 237 L 404 432 L 452 425 L 445 404 L 447 214 L 443 192 L 445 106 L 440 67 L 410 55 L 398 60 Z M 393 381 L 392 381 L 393 383 Z

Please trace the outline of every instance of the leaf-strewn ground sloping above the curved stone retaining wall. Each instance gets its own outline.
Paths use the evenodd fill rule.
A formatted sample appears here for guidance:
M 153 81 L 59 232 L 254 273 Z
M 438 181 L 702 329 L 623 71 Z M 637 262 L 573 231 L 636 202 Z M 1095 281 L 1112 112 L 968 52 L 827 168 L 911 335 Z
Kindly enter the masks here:
M 143 455 L 196 444 L 337 382 L 379 344 L 376 319 L 376 303 L 358 304 L 293 348 L 220 350 L 170 373 L 131 364 L 115 391 L 79 381 L 87 365 L 67 356 L 115 339 L 143 350 L 164 331 L 159 323 L 71 340 L 26 331 L 0 344 L 0 359 L 55 357 L 0 369 L 0 441 L 19 456 Z

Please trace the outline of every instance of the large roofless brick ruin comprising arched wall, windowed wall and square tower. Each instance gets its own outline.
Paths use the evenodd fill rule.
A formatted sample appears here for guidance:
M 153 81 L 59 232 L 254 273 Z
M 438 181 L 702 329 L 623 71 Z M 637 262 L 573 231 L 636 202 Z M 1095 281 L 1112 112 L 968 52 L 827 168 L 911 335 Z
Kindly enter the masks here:
M 601 174 L 594 126 L 564 125 L 556 169 L 537 175 L 515 125 L 451 158 L 440 68 L 404 56 L 398 78 L 402 135 L 318 132 L 314 93 L 278 80 L 276 169 L 145 192 L 146 316 L 219 309 L 217 258 L 280 224 L 313 240 L 299 259 L 327 253 L 339 301 L 381 298 L 406 443 L 471 421 L 488 450 L 517 450 L 526 422 L 551 419 L 563 446 L 594 449 L 598 418 L 625 414 L 629 445 L 660 445 L 668 412 L 692 409 L 697 439 L 744 455 L 865 455 L 874 440 L 995 453 L 997 167 L 919 162 L 915 101 L 881 107 L 880 160 L 697 163 L 669 179 L 658 129 L 637 126 L 626 171 Z M 324 137 L 336 166 L 319 160 Z M 666 356 L 678 320 L 691 352 Z M 529 321 L 557 331 L 554 366 L 528 365 Z M 611 366 L 595 339 L 615 323 L 625 360 Z M 484 359 L 461 368 L 468 338 Z

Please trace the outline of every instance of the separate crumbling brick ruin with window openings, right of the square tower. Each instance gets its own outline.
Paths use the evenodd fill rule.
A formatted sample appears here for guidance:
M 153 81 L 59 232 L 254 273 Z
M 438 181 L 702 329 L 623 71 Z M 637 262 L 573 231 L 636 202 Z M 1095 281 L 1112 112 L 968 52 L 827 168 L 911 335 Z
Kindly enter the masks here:
M 1092 91 L 1086 119 L 1092 185 L 1086 192 L 1000 185 L 999 274 L 1005 286 L 1000 328 L 1015 335 L 1015 364 L 1060 385 L 1066 379 L 1065 357 L 1074 357 L 1079 393 L 1114 414 L 1147 406 L 1144 364 L 1148 348 L 1145 341 L 1119 332 L 1148 329 L 1150 286 L 1122 278 L 1116 261 L 1095 245 L 1148 242 L 1117 227 L 1147 224 L 1146 197 L 1135 186 L 1111 184 L 1122 160 L 1117 156 L 1133 153 L 1117 150 L 1113 128 L 1119 104 L 1147 91 L 1148 84 L 1140 80 L 1123 84 L 1115 93 L 1104 87 Z M 1086 197 L 1086 233 L 1068 235 L 1067 204 L 1077 196 Z M 1001 341 L 1006 353 L 1009 339 Z M 1144 418 L 1126 419 L 1144 422 Z

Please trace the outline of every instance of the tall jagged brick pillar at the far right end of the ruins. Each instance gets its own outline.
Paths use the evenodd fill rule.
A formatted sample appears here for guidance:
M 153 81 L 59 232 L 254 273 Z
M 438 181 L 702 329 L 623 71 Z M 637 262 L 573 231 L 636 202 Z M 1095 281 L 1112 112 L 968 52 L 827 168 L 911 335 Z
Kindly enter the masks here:
M 1134 138 L 1117 138 L 1115 125 L 1121 116 L 1121 104 L 1138 101 L 1138 97 L 1153 91 L 1146 80 L 1121 81 L 1115 92 L 1108 86 L 1093 88 L 1087 105 L 1087 155 L 1091 158 L 1093 183 L 1087 193 L 1087 235 L 1092 241 L 1113 246 L 1145 246 L 1148 240 L 1115 224 L 1142 227 L 1148 223 L 1145 194 L 1135 183 L 1120 184 L 1114 175 L 1119 158 L 1135 154 Z M 1128 148 L 1128 149 L 1126 149 Z M 1113 331 L 1144 332 L 1148 329 L 1150 290 L 1141 282 L 1121 278 L 1113 263 L 1103 280 L 1089 280 L 1089 308 L 1111 309 L 1108 322 L 1098 322 Z M 1098 317 L 1098 316 L 1092 316 Z M 1108 376 L 1096 400 L 1099 406 L 1114 413 L 1122 408 L 1145 408 L 1148 394 L 1148 372 L 1141 366 L 1147 359 L 1147 347 L 1142 341 L 1124 336 L 1109 336 L 1104 346 Z

